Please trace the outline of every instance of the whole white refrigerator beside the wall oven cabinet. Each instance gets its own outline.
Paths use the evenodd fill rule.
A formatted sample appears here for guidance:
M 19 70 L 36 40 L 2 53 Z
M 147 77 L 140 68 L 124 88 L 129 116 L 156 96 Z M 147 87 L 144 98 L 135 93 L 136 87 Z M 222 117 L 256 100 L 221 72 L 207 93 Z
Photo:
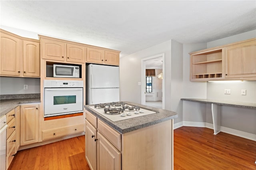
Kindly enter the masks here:
M 119 67 L 86 65 L 86 105 L 119 101 Z

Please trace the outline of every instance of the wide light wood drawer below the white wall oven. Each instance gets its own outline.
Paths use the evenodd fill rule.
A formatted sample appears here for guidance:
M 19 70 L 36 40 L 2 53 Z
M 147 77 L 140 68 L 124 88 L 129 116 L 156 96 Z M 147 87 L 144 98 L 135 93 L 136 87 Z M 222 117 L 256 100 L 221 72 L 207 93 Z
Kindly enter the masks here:
M 65 136 L 68 134 L 74 134 L 74 133 L 83 132 L 83 131 L 84 131 L 84 124 L 70 126 L 70 127 L 56 128 L 52 130 L 44 130 L 42 132 L 42 140 L 57 138 L 60 136 Z

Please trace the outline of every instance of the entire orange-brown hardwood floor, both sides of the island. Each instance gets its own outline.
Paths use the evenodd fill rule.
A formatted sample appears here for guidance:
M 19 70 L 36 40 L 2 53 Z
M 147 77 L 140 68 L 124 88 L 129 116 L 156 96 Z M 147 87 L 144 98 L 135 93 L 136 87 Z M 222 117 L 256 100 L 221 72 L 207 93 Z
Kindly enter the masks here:
M 89 170 L 84 136 L 18 151 L 9 170 Z M 174 130 L 174 170 L 256 170 L 256 142 L 209 128 Z

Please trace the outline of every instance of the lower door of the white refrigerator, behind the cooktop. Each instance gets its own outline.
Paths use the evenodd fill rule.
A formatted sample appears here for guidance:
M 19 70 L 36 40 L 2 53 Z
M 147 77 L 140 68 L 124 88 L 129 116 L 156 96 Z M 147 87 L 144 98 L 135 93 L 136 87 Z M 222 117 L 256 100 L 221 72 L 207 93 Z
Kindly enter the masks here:
M 90 105 L 119 101 L 119 88 L 91 89 Z

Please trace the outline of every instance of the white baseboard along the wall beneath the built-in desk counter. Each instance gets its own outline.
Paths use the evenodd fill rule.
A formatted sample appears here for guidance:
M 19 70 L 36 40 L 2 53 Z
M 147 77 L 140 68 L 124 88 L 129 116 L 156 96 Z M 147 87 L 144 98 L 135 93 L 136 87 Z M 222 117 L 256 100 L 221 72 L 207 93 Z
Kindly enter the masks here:
M 182 126 L 186 126 L 186 127 L 206 127 L 206 128 L 213 129 L 213 124 L 211 124 L 211 123 L 188 122 L 188 121 L 175 123 L 174 124 L 174 129 L 182 127 Z M 228 134 L 232 134 L 232 135 L 235 135 L 235 136 L 239 136 L 239 137 L 242 137 L 242 138 L 246 138 L 246 139 L 256 141 L 256 134 L 251 134 L 251 133 L 247 133 L 247 132 L 243 132 L 243 131 L 240 131 L 240 130 L 235 130 L 235 129 L 227 128 L 227 127 L 220 127 L 220 131 L 228 133 Z M 216 134 L 216 135 L 218 135 L 218 134 Z

